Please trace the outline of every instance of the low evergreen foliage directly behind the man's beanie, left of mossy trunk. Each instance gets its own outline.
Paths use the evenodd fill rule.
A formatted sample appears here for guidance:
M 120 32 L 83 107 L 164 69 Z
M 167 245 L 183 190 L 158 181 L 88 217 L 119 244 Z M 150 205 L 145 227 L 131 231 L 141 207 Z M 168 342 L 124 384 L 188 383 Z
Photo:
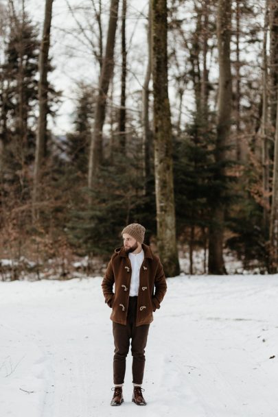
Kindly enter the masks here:
M 67 233 L 78 254 L 111 254 L 122 245 L 121 230 L 128 223 L 144 224 L 146 241 L 155 228 L 154 195 L 143 195 L 140 161 L 129 158 L 127 169 L 123 156 L 116 159 L 113 165 L 106 161 L 94 189 L 82 189 L 82 201 L 71 210 Z M 86 203 L 89 194 L 92 206 Z

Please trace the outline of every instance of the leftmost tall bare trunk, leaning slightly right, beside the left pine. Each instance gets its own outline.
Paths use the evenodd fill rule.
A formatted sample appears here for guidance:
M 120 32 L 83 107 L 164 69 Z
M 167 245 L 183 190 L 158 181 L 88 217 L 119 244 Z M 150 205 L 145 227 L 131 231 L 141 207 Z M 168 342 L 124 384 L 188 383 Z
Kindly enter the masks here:
M 32 219 L 36 220 L 38 211 L 36 211 L 36 203 L 38 202 L 38 193 L 40 187 L 40 171 L 43 160 L 46 155 L 47 146 L 47 93 L 48 82 L 47 73 L 49 69 L 49 47 L 50 47 L 50 30 L 52 19 L 52 5 L 54 0 L 45 0 L 45 21 L 43 23 L 43 38 L 40 44 L 40 56 L 38 61 L 38 69 L 40 80 L 38 82 L 38 128 L 36 132 L 36 154 L 34 163 L 34 185 L 33 185 L 33 201 L 32 201 Z

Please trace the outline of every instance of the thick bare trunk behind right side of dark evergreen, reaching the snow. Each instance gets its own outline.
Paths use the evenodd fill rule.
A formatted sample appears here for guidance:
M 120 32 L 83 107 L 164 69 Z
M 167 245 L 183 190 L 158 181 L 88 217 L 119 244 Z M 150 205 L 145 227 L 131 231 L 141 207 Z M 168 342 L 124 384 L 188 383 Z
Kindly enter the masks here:
M 231 124 L 231 0 L 218 1 L 217 16 L 219 91 L 218 121 L 216 137 L 216 180 L 223 180 L 224 162 Z M 212 202 L 211 226 L 209 230 L 209 274 L 225 274 L 223 259 L 224 195 L 218 195 Z

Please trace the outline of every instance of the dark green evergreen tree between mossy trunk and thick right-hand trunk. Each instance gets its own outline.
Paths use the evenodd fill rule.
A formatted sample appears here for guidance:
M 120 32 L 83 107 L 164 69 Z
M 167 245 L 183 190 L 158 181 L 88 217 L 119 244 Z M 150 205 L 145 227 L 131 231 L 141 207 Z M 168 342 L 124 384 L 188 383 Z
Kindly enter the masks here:
M 213 115 L 210 115 L 210 119 Z M 194 112 L 185 132 L 175 140 L 174 187 L 178 239 L 189 243 L 190 274 L 194 248 L 207 248 L 211 223 L 209 199 L 216 193 L 213 182 L 216 132 L 207 127 L 201 114 Z M 204 272 L 207 272 L 204 267 Z

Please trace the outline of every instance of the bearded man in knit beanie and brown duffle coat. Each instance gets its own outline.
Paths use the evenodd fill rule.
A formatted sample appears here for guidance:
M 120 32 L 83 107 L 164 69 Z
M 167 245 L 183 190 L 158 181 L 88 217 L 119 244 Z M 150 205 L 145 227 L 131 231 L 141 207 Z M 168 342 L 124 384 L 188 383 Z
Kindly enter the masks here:
M 129 224 L 122 230 L 124 246 L 115 250 L 102 281 L 105 302 L 112 308 L 110 318 L 115 344 L 115 388 L 111 405 L 121 405 L 124 401 L 122 387 L 130 339 L 134 385 L 132 401 L 137 405 L 146 405 L 141 389 L 145 348 L 153 320 L 152 312 L 159 309 L 167 285 L 159 257 L 143 243 L 145 230 L 137 223 Z

